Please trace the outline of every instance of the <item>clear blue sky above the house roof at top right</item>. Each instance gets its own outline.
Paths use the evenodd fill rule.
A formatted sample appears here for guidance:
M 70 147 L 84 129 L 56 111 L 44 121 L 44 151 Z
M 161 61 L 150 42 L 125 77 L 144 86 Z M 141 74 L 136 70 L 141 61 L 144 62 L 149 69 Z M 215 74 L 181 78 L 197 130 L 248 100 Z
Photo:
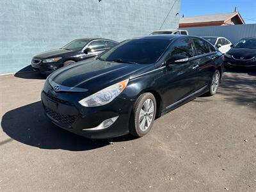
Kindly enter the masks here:
M 234 12 L 235 7 L 246 24 L 256 24 L 256 0 L 181 0 L 180 17 Z

